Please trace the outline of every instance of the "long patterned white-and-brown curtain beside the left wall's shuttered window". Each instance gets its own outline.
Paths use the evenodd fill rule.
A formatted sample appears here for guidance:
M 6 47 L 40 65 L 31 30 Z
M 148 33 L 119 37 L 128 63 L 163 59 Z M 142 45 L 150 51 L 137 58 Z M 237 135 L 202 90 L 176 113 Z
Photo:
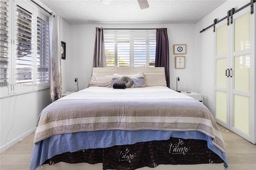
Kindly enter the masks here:
M 60 16 L 52 14 L 49 18 L 49 27 L 51 57 L 50 103 L 52 103 L 62 97 Z

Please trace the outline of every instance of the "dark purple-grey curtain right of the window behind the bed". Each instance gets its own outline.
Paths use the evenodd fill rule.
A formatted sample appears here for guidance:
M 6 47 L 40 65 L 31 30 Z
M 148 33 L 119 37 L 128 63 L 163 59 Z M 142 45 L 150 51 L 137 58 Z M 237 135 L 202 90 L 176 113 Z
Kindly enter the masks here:
M 155 67 L 164 67 L 167 87 L 170 88 L 169 72 L 169 40 L 167 28 L 158 28 L 156 30 L 156 61 Z

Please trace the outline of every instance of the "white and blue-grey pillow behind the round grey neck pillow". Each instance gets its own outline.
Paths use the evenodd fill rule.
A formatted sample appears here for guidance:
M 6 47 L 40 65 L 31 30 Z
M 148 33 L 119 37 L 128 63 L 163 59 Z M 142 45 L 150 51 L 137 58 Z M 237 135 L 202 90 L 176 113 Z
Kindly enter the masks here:
M 113 74 L 111 87 L 113 87 L 114 83 L 118 83 L 119 79 L 122 76 L 129 76 L 132 78 L 132 87 L 145 87 L 145 81 L 144 81 L 144 73 L 140 72 L 138 74 L 131 74 L 131 75 L 119 75 L 119 74 Z

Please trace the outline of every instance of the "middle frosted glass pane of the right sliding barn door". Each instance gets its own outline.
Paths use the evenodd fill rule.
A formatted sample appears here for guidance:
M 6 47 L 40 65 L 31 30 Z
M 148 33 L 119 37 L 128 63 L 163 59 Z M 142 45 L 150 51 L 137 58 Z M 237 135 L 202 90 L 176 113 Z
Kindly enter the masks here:
M 250 55 L 234 57 L 234 89 L 250 91 Z

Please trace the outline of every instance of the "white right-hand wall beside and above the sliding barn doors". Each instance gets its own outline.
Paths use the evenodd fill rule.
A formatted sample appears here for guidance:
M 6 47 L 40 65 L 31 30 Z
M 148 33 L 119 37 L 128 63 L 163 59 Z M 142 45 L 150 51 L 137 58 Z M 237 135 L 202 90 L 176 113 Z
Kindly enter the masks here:
M 248 4 L 250 0 L 228 0 L 196 24 L 196 55 L 198 67 L 196 81 L 200 82 L 197 91 L 204 95 L 204 105 L 214 111 L 214 32 L 213 27 L 200 31 L 213 24 L 216 18 L 220 20 L 227 16 L 228 10 L 236 10 Z M 208 101 L 206 101 L 208 97 Z

